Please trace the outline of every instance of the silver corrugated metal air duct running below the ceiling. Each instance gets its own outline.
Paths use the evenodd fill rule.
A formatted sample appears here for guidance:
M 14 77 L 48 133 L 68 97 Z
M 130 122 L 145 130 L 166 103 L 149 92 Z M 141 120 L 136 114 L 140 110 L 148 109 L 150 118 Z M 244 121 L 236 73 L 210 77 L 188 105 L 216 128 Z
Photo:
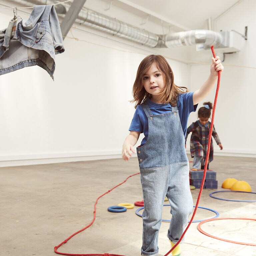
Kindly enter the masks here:
M 31 4 L 50 4 L 53 1 L 14 0 L 13 2 L 31 6 Z M 56 12 L 60 17 L 64 17 L 69 8 L 69 3 L 55 5 Z M 220 33 L 211 30 L 190 30 L 167 35 L 156 35 L 85 7 L 80 11 L 76 22 L 149 47 L 171 48 L 204 44 L 206 47 L 214 45 L 217 48 L 222 40 Z

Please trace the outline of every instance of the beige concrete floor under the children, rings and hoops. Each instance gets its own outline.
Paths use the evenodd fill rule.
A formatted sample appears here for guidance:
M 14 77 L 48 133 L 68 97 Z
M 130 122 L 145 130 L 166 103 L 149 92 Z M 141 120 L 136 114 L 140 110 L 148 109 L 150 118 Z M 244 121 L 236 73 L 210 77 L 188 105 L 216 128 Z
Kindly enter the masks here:
M 0 168 L 0 256 L 56 255 L 54 246 L 92 221 L 97 197 L 139 171 L 137 161 L 134 157 L 129 162 L 111 159 Z M 218 211 L 219 217 L 256 219 L 255 202 L 209 197 L 210 192 L 223 190 L 222 182 L 230 177 L 247 181 L 252 192 L 256 192 L 255 166 L 256 158 L 215 156 L 210 169 L 217 171 L 218 189 L 204 189 L 199 206 Z M 194 204 L 198 192 L 199 189 L 192 190 Z M 256 200 L 255 194 L 247 193 L 226 192 L 216 196 Z M 100 198 L 94 224 L 71 238 L 58 251 L 140 255 L 142 218 L 135 214 L 139 207 L 124 213 L 108 212 L 107 207 L 141 200 L 140 176 L 136 175 Z M 164 219 L 171 217 L 169 210 L 168 206 L 164 207 Z M 198 209 L 195 220 L 214 216 L 211 211 Z M 159 232 L 161 255 L 170 250 L 166 237 L 168 225 L 168 222 L 162 222 Z M 256 256 L 256 246 L 213 239 L 200 233 L 197 225 L 192 223 L 187 232 L 182 256 Z M 203 224 L 202 229 L 224 239 L 256 244 L 255 221 L 211 221 Z

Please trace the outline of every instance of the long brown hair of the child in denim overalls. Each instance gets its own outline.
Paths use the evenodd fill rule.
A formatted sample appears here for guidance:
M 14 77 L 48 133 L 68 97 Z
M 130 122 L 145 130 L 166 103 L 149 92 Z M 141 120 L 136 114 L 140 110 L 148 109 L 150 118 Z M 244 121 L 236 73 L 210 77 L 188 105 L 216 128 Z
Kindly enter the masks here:
M 133 84 L 133 100 L 131 102 L 136 102 L 135 108 L 144 102 L 147 98 L 151 98 L 152 95 L 149 94 L 143 86 L 143 75 L 146 74 L 148 69 L 152 64 L 155 64 L 157 68 L 162 72 L 164 79 L 164 88 L 160 94 L 160 102 L 166 103 L 170 102 L 172 106 L 177 105 L 177 98 L 180 93 L 188 92 L 187 87 L 179 87 L 174 83 L 174 76 L 170 65 L 167 60 L 161 55 L 149 55 L 144 58 L 137 70 L 137 75 L 135 82 Z M 185 91 L 184 91 L 184 90 Z

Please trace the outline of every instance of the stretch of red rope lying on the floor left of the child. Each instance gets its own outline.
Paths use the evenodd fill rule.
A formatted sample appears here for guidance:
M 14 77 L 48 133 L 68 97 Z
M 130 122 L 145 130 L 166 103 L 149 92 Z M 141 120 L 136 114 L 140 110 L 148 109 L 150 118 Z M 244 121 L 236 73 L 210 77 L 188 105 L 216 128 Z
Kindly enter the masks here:
M 133 174 L 133 175 L 128 176 L 122 183 L 116 185 L 115 187 L 111 188 L 110 190 L 108 190 L 107 192 L 105 192 L 104 194 L 102 194 L 101 196 L 99 196 L 99 197 L 97 198 L 95 204 L 94 204 L 94 212 L 93 212 L 93 220 L 92 220 L 92 222 L 91 222 L 89 225 L 87 225 L 85 228 L 83 228 L 83 229 L 77 231 L 76 233 L 74 233 L 73 235 L 71 235 L 70 237 L 68 237 L 66 240 L 64 240 L 64 241 L 63 241 L 62 243 L 60 243 L 59 245 L 55 246 L 55 247 L 54 247 L 54 252 L 57 253 L 57 254 L 69 255 L 69 256 L 90 256 L 90 255 L 95 255 L 95 256 L 96 256 L 96 255 L 97 255 L 97 256 L 125 256 L 125 255 L 108 254 L 108 253 L 104 253 L 104 254 L 98 254 L 98 253 L 96 253 L 96 254 L 93 254 L 93 253 L 91 253 L 91 254 L 63 253 L 63 252 L 58 252 L 57 249 L 58 249 L 60 246 L 62 246 L 63 244 L 65 244 L 70 238 L 72 238 L 72 237 L 75 236 L 76 234 L 78 234 L 78 233 L 84 231 L 85 229 L 89 228 L 89 227 L 92 225 L 92 223 L 94 222 L 94 220 L 95 220 L 95 218 L 96 218 L 96 204 L 98 203 L 98 200 L 99 200 L 101 197 L 103 197 L 104 195 L 106 195 L 107 193 L 109 193 L 110 191 L 112 191 L 113 189 L 115 189 L 116 187 L 118 187 L 118 186 L 122 185 L 123 183 L 125 183 L 130 177 L 135 176 L 135 175 L 137 175 L 137 174 L 140 174 L 140 173 L 138 172 L 138 173 L 135 173 L 135 174 Z

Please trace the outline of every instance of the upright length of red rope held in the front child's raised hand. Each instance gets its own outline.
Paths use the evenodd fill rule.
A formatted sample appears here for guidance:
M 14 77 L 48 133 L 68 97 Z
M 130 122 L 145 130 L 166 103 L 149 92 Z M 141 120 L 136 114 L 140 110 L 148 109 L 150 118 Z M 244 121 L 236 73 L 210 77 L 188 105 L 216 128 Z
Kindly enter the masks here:
M 213 45 L 211 46 L 211 50 L 212 50 L 213 57 L 215 58 L 216 55 L 215 55 L 215 52 L 214 52 Z M 206 176 L 206 171 L 207 171 L 207 164 L 208 164 L 208 160 L 209 160 L 209 154 L 210 154 L 210 148 L 211 148 L 211 139 L 212 139 L 212 130 L 213 130 L 213 122 L 214 122 L 214 115 L 215 115 L 215 108 L 216 108 L 216 103 L 217 103 L 217 98 L 218 98 L 218 93 L 219 93 L 219 87 L 220 87 L 220 72 L 221 71 L 218 71 L 218 82 L 217 82 L 216 94 L 215 94 L 215 99 L 214 99 L 214 104 L 213 104 L 213 109 L 212 109 L 212 121 L 211 121 L 209 137 L 208 137 L 208 148 L 207 148 L 207 154 L 206 154 L 206 158 L 205 158 L 204 174 L 203 174 L 203 178 L 202 178 L 202 183 L 201 183 L 200 191 L 198 193 L 198 198 L 197 198 L 197 201 L 196 201 L 195 210 L 193 212 L 191 220 L 188 223 L 188 226 L 186 227 L 185 231 L 181 235 L 180 240 L 164 256 L 167 256 L 180 243 L 181 239 L 184 237 L 185 233 L 187 232 L 189 226 L 191 225 L 191 223 L 192 223 L 192 221 L 193 221 L 193 219 L 194 219 L 194 217 L 196 215 L 197 207 L 198 207 L 198 204 L 199 204 L 199 201 L 200 201 L 200 197 L 201 197 L 201 194 L 202 194 L 202 191 L 203 191 L 203 188 L 204 188 L 204 181 L 205 181 L 205 176 Z

